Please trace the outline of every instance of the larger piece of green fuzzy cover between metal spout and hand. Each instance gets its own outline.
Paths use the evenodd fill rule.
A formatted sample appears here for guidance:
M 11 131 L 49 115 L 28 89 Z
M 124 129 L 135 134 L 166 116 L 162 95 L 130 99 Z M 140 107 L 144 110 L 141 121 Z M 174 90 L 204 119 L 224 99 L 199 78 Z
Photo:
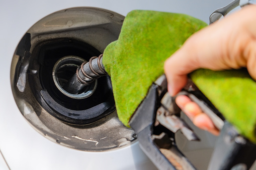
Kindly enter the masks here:
M 127 15 L 118 40 L 107 46 L 103 57 L 117 114 L 126 126 L 152 82 L 163 74 L 164 61 L 205 26 L 183 14 L 132 11 Z

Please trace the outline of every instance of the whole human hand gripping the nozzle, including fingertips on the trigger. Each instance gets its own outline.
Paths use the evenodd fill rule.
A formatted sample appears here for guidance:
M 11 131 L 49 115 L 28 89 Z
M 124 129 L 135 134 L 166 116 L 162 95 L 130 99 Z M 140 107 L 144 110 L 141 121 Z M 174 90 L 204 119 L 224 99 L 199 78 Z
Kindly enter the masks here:
M 256 79 L 256 6 L 250 5 L 191 36 L 165 61 L 168 92 L 174 96 L 187 83 L 187 74 L 198 69 L 238 69 L 247 67 Z M 218 134 L 211 119 L 186 96 L 177 104 L 200 128 Z

